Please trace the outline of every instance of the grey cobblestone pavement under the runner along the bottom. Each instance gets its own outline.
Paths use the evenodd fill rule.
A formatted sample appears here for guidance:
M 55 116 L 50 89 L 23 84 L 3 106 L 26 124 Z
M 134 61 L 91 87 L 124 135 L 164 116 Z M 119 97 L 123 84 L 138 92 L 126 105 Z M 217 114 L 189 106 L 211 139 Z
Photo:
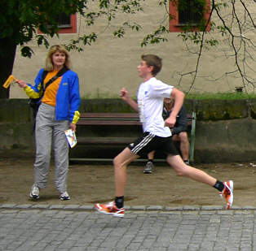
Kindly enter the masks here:
M 0 250 L 256 250 L 254 207 L 0 204 Z

